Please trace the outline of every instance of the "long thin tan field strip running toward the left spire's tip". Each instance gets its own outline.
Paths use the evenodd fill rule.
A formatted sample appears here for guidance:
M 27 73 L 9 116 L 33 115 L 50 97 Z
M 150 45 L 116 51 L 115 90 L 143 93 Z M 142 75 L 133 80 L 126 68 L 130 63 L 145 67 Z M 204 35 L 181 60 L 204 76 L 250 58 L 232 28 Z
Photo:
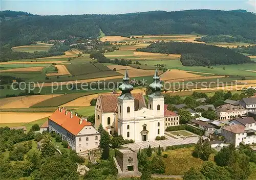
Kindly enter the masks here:
M 104 81 L 104 80 L 112 80 L 112 79 L 121 79 L 123 78 L 123 75 L 116 75 L 116 76 L 110 76 L 105 78 L 94 78 L 94 79 L 87 79 L 87 80 L 76 80 L 76 81 L 63 81 L 63 82 L 53 82 L 53 83 L 39 83 L 40 87 L 49 87 L 49 86 L 64 86 L 68 83 L 89 83 L 89 82 L 96 82 L 96 81 Z M 35 87 L 38 87 L 38 84 L 35 84 Z

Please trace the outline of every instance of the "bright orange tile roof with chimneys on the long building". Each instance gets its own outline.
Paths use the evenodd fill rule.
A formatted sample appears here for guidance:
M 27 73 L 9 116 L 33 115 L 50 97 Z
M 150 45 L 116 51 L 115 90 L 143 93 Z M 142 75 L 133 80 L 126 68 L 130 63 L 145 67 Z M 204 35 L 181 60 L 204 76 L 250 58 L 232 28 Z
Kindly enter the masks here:
M 92 125 L 91 122 L 83 120 L 81 124 L 79 124 L 80 117 L 75 116 L 71 118 L 71 113 L 68 111 L 67 115 L 65 114 L 65 109 L 60 112 L 58 109 L 49 117 L 50 120 L 57 123 L 58 125 L 65 128 L 73 135 L 77 135 L 84 126 Z

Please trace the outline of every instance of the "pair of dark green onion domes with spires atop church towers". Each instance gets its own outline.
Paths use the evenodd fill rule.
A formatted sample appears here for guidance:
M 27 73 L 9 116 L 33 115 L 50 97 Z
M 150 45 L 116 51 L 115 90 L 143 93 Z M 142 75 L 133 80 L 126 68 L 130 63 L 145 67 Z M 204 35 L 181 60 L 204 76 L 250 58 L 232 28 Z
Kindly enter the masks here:
M 159 97 L 161 96 L 161 89 L 163 88 L 163 85 L 160 83 L 160 78 L 158 76 L 158 71 L 156 69 L 155 74 L 153 76 L 154 82 L 150 84 L 150 89 L 152 90 L 153 94 L 150 96 L 152 97 Z M 127 72 L 127 68 L 125 68 L 125 73 L 123 77 L 123 83 L 119 86 L 119 90 L 122 91 L 121 95 L 119 97 L 127 97 L 130 98 L 131 91 L 133 90 L 133 86 L 129 83 L 130 78 Z M 128 97 L 129 96 L 129 97 Z

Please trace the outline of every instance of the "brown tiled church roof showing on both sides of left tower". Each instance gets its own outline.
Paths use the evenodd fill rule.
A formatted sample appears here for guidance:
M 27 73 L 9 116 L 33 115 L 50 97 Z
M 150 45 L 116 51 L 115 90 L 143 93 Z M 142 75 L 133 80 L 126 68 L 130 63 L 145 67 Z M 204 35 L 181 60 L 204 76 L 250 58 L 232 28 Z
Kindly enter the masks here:
M 101 109 L 102 112 L 117 112 L 117 104 L 118 104 L 118 96 L 120 94 L 100 94 L 98 96 L 100 102 L 101 102 Z M 134 97 L 134 106 L 135 110 L 136 108 L 141 108 L 141 106 L 145 106 L 145 99 L 142 93 L 132 93 L 132 96 Z M 136 99 L 138 102 L 136 102 Z M 142 105 L 141 105 L 142 104 Z

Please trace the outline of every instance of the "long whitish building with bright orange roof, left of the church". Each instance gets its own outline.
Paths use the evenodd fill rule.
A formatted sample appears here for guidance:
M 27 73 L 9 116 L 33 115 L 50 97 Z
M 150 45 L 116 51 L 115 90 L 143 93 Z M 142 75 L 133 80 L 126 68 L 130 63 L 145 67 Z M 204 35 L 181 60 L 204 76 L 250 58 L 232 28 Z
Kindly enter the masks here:
M 87 118 L 78 117 L 65 108 L 58 108 L 49 118 L 49 132 L 55 132 L 76 152 L 97 148 L 100 133 Z

